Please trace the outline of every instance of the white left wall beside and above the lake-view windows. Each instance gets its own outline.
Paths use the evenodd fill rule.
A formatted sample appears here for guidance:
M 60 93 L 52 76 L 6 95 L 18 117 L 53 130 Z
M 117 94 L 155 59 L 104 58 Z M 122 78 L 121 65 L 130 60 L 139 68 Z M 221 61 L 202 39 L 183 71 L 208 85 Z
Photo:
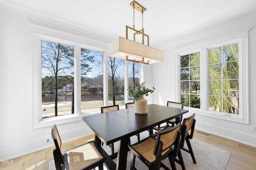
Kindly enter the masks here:
M 32 44 L 34 33 L 104 50 L 115 37 L 8 3 L 0 3 L 0 24 L 0 160 L 8 160 L 54 145 L 52 124 L 43 127 L 42 135 L 33 127 L 34 116 L 38 115 L 38 109 L 33 108 L 33 57 L 38 57 L 33 49 L 37 46 Z M 153 86 L 151 67 L 144 67 L 143 80 L 149 88 Z M 147 99 L 152 104 L 152 96 Z M 93 134 L 82 116 L 76 120 L 57 124 L 62 142 Z

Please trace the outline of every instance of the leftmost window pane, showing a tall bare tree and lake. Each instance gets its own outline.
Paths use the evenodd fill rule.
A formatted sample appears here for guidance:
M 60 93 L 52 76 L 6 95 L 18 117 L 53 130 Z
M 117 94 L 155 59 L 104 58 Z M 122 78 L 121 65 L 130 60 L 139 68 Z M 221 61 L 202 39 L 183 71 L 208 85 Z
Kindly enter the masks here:
M 41 41 L 42 118 L 74 113 L 74 47 Z

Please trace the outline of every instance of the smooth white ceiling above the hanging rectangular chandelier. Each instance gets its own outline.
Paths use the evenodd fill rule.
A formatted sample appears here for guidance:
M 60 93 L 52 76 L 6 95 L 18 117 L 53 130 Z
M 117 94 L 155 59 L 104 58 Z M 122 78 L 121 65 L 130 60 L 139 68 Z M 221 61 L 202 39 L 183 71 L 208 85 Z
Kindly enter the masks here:
M 132 0 L 0 0 L 0 5 L 1 1 L 100 31 L 113 39 L 125 37 L 125 25 L 133 25 L 133 9 L 130 6 Z M 224 23 L 235 27 L 241 25 L 241 21 L 246 23 L 256 19 L 256 0 L 136 2 L 146 8 L 144 31 L 149 35 L 152 47 L 195 37 L 198 33 L 209 33 L 210 30 L 220 31 L 216 30 L 216 26 L 225 25 Z M 239 23 L 235 22 L 236 18 L 240 19 Z M 141 28 L 142 14 L 135 10 L 135 29 Z

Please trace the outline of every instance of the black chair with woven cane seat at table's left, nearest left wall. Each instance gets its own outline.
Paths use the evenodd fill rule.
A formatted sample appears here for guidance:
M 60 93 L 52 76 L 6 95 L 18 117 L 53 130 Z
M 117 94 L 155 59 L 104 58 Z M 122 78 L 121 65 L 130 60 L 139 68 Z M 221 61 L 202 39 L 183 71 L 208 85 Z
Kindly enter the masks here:
M 56 125 L 52 126 L 52 139 L 56 147 L 53 150 L 56 170 L 64 170 L 65 168 L 66 170 L 91 170 L 97 166 L 99 170 L 103 170 L 103 163 L 106 158 L 98 149 L 95 141 L 65 150 L 63 155 L 61 153 L 62 142 Z

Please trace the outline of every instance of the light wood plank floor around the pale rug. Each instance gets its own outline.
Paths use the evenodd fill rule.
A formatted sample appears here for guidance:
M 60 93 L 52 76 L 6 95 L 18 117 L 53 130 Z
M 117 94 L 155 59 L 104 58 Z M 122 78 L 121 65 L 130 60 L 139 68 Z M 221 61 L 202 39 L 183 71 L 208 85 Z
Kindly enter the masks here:
M 255 147 L 197 130 L 195 130 L 194 138 L 230 151 L 231 154 L 226 170 L 256 170 Z M 93 139 L 94 135 L 90 135 L 63 143 L 62 150 L 64 151 Z M 54 147 L 50 147 L 48 149 L 39 150 L 31 154 L 14 158 L 12 159 L 13 164 L 6 165 L 0 163 L 0 170 L 48 170 L 48 161 L 53 160 L 53 149 Z

